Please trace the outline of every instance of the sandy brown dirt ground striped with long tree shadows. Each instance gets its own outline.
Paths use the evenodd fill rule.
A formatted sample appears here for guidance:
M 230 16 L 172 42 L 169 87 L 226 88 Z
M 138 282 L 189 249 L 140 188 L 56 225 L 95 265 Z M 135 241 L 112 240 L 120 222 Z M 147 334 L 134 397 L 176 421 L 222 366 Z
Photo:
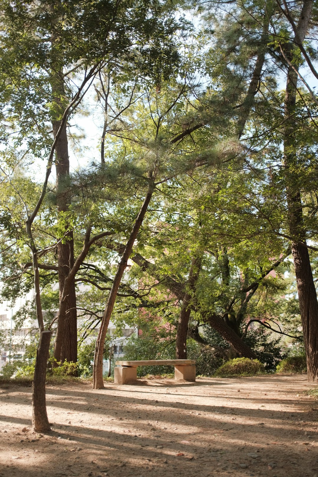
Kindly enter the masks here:
M 31 387 L 0 389 L 1 477 L 318 477 L 306 375 L 47 386 L 52 432 L 31 431 Z

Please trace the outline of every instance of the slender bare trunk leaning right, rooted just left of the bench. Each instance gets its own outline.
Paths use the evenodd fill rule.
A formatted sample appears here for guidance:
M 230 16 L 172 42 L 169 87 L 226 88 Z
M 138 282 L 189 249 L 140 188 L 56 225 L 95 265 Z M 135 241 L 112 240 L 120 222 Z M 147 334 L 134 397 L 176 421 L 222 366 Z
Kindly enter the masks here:
M 146 197 L 144 198 L 144 203 L 139 210 L 138 216 L 135 220 L 133 225 L 133 230 L 129 236 L 129 239 L 126 243 L 122 259 L 120 260 L 117 272 L 113 280 L 112 289 L 109 292 L 108 300 L 105 306 L 105 311 L 103 314 L 103 318 L 101 321 L 101 327 L 98 333 L 98 337 L 96 340 L 95 346 L 95 354 L 94 354 L 94 364 L 93 364 L 93 389 L 103 389 L 103 351 L 104 351 L 104 343 L 105 337 L 108 329 L 108 324 L 113 312 L 113 307 L 116 301 L 117 291 L 119 289 L 123 272 L 127 267 L 127 260 L 129 259 L 132 250 L 133 250 L 133 243 L 137 238 L 139 229 L 143 223 L 145 213 L 147 211 L 149 202 L 154 192 L 154 183 L 151 183 L 148 187 L 148 191 Z

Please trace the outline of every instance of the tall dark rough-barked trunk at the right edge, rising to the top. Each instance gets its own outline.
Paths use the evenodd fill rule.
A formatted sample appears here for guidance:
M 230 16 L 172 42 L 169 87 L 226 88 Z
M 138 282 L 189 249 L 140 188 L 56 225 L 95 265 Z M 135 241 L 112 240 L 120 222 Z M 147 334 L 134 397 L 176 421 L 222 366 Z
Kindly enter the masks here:
M 313 8 L 313 1 L 305 0 L 296 31 L 296 43 L 303 43 Z M 285 94 L 284 130 L 284 166 L 287 193 L 289 234 L 293 238 L 292 253 L 294 258 L 300 315 L 304 333 L 307 357 L 308 381 L 318 381 L 318 301 L 312 276 L 308 248 L 306 247 L 306 230 L 303 220 L 300 187 L 297 170 L 297 130 L 295 109 L 297 98 L 297 58 L 295 46 L 287 49 L 289 62 Z M 295 172 L 296 171 L 296 172 Z

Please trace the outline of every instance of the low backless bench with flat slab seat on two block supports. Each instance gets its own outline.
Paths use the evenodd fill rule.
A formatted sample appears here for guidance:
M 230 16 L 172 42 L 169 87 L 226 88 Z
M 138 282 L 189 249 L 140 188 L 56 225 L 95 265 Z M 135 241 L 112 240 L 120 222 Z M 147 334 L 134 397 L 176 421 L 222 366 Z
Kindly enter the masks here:
M 116 361 L 114 368 L 115 384 L 136 384 L 137 366 L 174 366 L 175 381 L 195 381 L 195 360 L 163 359 L 148 361 Z

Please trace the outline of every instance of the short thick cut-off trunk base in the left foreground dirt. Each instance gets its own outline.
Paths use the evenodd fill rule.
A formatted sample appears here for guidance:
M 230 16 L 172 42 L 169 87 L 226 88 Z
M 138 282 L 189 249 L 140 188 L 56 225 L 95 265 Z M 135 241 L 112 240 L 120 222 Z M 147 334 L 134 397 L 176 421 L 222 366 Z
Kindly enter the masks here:
M 35 432 L 49 432 L 51 427 L 46 412 L 45 379 L 51 332 L 42 331 L 36 353 L 35 370 L 32 387 L 32 427 Z

